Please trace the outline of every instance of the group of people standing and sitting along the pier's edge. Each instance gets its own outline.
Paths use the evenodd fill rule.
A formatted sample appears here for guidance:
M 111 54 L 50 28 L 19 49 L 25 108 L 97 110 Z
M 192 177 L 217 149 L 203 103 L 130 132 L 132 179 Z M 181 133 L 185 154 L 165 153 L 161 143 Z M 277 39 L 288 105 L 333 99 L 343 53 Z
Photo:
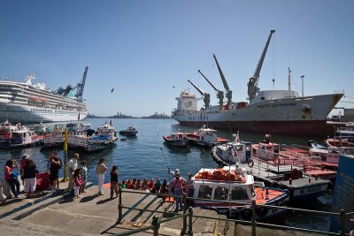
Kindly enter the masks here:
M 89 180 L 87 161 L 81 161 L 81 165 L 79 166 L 79 158 L 79 154 L 75 153 L 67 164 L 68 186 L 65 192 L 73 191 L 74 198 L 81 198 L 81 194 L 86 193 L 85 187 Z M 47 165 L 52 193 L 56 193 L 60 190 L 58 175 L 62 167 L 62 160 L 57 156 L 56 151 L 52 151 Z M 19 172 L 17 169 L 19 169 Z M 98 195 L 104 195 L 104 176 L 107 170 L 108 167 L 105 165 L 104 157 L 101 157 L 95 169 L 98 179 Z M 20 194 L 19 175 L 23 181 L 27 198 L 35 196 L 35 188 L 37 185 L 36 176 L 38 173 L 39 171 L 36 169 L 34 160 L 28 155 L 22 157 L 20 164 L 18 164 L 15 159 L 9 159 L 4 166 L 4 179 L 11 187 L 15 197 L 19 197 Z M 149 191 L 150 193 L 156 194 L 172 194 L 176 196 L 175 210 L 181 210 L 182 194 L 186 194 L 189 197 L 193 196 L 192 174 L 189 172 L 188 179 L 184 179 L 181 177 L 181 173 L 178 169 L 175 171 L 168 169 L 168 173 L 170 177 L 173 178 L 170 182 L 167 182 L 166 179 L 161 182 L 158 178 L 156 181 L 154 179 L 126 179 L 120 183 L 118 166 L 112 165 L 110 171 L 111 198 L 113 198 L 114 194 L 116 197 L 119 195 L 119 186 L 127 189 Z

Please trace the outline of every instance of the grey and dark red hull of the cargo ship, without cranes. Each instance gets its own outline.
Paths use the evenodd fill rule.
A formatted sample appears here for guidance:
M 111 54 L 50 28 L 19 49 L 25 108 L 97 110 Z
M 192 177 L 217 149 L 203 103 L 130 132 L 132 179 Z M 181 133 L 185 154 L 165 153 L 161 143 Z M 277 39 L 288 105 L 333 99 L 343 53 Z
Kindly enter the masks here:
M 181 126 L 207 125 L 216 129 L 253 133 L 327 135 L 327 115 L 342 94 L 264 100 L 235 110 L 174 111 Z

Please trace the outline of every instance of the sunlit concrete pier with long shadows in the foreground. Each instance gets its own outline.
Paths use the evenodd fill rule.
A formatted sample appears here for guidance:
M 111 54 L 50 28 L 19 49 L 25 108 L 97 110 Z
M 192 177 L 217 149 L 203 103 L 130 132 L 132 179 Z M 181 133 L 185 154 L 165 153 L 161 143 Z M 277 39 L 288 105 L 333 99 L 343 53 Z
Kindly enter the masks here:
M 110 198 L 110 189 L 104 188 L 104 195 L 98 195 L 98 187 L 88 185 L 82 198 L 64 194 L 64 190 L 51 194 L 42 191 L 33 199 L 9 199 L 0 203 L 0 235 L 97 235 L 127 232 L 138 227 L 151 225 L 152 217 L 174 215 L 173 203 L 165 202 L 156 195 L 145 192 L 122 194 L 122 204 L 127 207 L 157 210 L 153 213 L 135 209 L 123 209 L 123 223 L 119 224 L 119 198 Z M 61 184 L 65 188 L 66 184 Z M 24 194 L 22 194 L 24 195 Z M 179 214 L 182 212 L 180 211 Z M 251 227 L 222 221 L 225 216 L 213 210 L 193 209 L 194 235 L 251 235 Z M 197 216 L 217 217 L 218 220 Z M 182 219 L 162 224 L 160 235 L 181 235 Z M 152 231 L 139 235 L 151 235 Z M 289 232 L 257 227 L 257 235 L 306 235 L 304 232 Z M 310 234 L 307 234 L 310 235 Z M 311 234 L 314 235 L 314 234 Z

